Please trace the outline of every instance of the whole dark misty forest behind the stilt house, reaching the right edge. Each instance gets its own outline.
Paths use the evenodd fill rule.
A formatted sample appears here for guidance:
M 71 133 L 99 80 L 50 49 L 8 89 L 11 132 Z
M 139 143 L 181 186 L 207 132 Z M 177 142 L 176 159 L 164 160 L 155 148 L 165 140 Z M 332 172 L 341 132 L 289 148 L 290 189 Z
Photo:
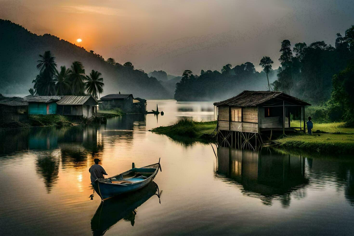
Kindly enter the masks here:
M 353 60 L 353 31 L 352 27 L 344 36 L 337 33 L 335 47 L 317 41 L 309 45 L 299 42 L 292 48 L 289 40 L 282 41 L 281 67 L 276 70 L 272 69 L 273 61 L 269 57 L 260 60 L 261 73 L 251 62 L 234 68 L 227 64 L 221 72 L 202 70 L 200 75 L 186 70 L 176 84 L 175 99 L 223 100 L 243 90 L 274 90 L 321 105 L 331 97 L 333 76 Z

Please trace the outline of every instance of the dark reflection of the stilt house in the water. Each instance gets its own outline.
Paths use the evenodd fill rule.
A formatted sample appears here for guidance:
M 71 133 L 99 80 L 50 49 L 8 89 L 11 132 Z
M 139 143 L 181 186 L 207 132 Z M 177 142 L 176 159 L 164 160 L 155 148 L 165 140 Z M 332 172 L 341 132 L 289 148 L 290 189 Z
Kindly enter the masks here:
M 257 197 L 265 205 L 278 199 L 283 207 L 290 205 L 290 194 L 303 197 L 305 158 L 280 153 L 262 153 L 218 148 L 217 178 L 242 185 L 242 193 Z M 225 178 L 226 177 L 226 178 Z

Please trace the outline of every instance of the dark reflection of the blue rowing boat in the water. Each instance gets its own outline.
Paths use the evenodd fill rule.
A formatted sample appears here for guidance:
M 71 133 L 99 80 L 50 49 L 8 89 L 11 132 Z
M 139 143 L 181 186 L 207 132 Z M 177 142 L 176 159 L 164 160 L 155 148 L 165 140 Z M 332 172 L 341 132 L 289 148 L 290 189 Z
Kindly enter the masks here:
M 91 219 L 93 235 L 104 235 L 110 227 L 121 219 L 130 221 L 131 225 L 134 226 L 135 215 L 137 214 L 136 208 L 154 195 L 158 196 L 160 200 L 161 192 L 159 191 L 158 185 L 152 182 L 133 193 L 109 198 L 101 202 Z

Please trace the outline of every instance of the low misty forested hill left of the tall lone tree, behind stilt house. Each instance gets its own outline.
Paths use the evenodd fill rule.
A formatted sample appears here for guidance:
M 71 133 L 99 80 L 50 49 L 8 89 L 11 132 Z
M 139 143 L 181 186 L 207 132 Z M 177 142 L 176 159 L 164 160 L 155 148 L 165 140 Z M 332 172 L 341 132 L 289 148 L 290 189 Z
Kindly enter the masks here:
M 251 62 L 236 65 L 228 64 L 219 71 L 202 70 L 200 75 L 190 74 L 182 77 L 176 85 L 175 99 L 180 101 L 221 101 L 234 97 L 244 90 L 268 90 L 267 75 L 255 70 Z M 276 80 L 278 70 L 268 74 L 269 82 Z

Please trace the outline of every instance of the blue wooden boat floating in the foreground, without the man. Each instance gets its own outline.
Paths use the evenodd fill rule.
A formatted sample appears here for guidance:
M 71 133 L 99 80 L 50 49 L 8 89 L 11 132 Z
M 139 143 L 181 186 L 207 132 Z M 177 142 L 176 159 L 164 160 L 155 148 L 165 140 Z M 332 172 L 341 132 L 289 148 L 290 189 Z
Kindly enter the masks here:
M 129 171 L 105 179 L 96 179 L 95 183 L 92 183 L 102 201 L 143 188 L 153 181 L 159 169 L 161 171 L 160 159 L 158 163 L 149 166 L 135 168 L 133 163 L 132 167 Z

